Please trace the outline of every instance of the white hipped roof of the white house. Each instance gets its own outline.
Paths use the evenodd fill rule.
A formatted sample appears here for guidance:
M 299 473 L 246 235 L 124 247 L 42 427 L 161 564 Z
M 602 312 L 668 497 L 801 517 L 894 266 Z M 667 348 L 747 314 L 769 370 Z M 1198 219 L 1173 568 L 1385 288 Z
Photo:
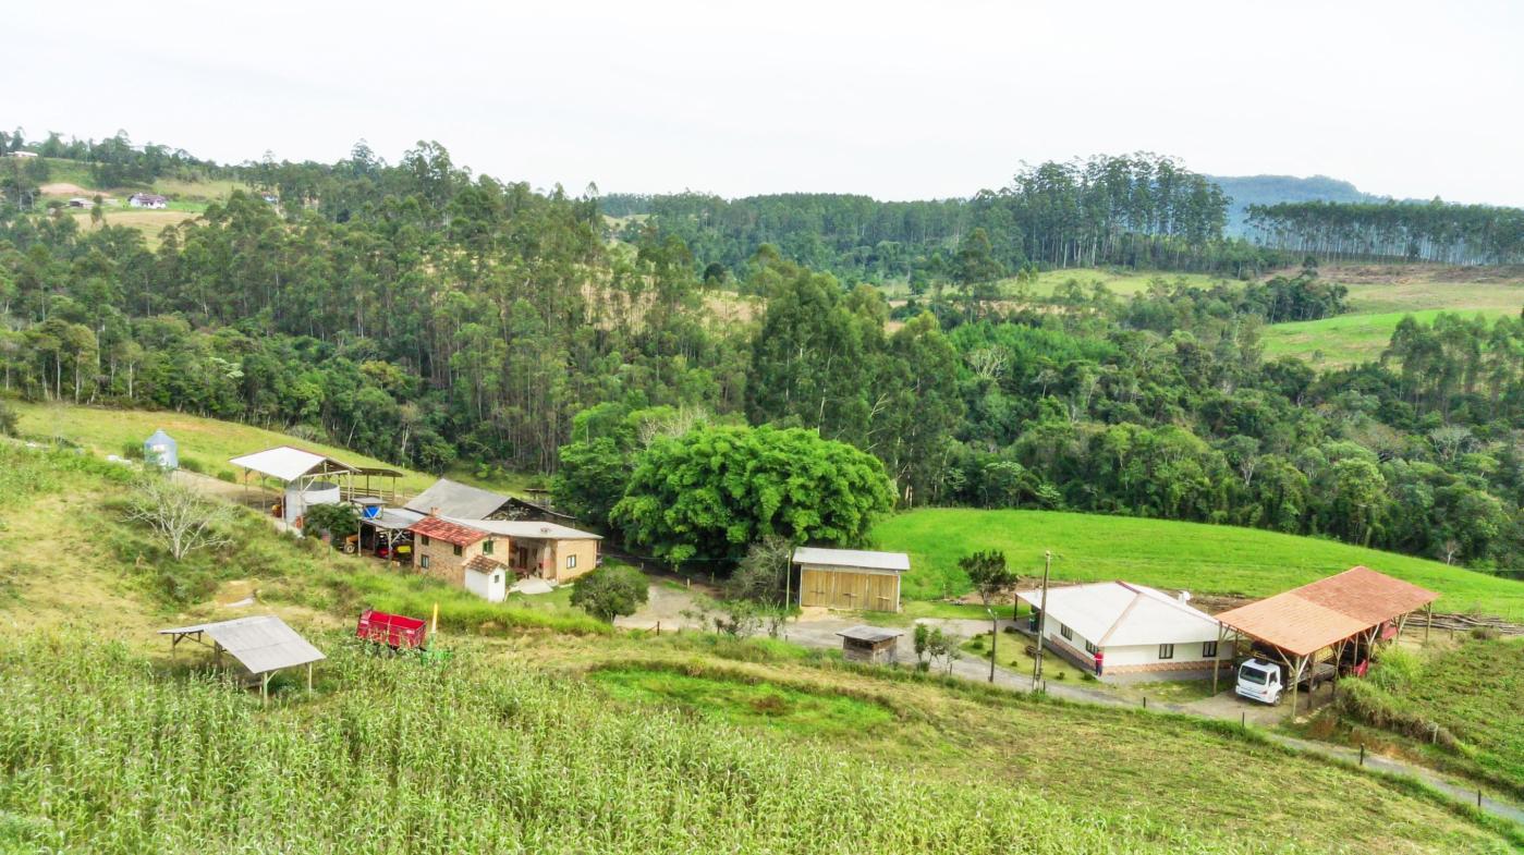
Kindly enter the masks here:
M 1017 591 L 1039 607 L 1042 591 Z M 1105 646 L 1216 642 L 1218 622 L 1178 599 L 1131 582 L 1049 587 L 1049 617 Z

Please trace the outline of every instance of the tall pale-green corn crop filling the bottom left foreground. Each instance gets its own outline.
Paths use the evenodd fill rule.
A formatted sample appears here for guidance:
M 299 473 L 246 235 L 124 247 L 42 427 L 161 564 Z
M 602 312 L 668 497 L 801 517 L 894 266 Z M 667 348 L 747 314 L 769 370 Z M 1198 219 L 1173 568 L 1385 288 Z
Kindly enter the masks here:
M 261 710 L 120 645 L 0 640 L 0 850 L 1253 850 L 657 707 L 619 713 L 579 681 L 479 655 L 323 646 L 319 692 Z

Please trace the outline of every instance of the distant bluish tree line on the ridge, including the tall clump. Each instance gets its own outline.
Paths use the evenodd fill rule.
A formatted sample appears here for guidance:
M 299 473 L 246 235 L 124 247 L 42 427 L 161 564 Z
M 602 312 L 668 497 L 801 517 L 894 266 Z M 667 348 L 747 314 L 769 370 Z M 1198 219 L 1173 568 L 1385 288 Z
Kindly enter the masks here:
M 1224 238 L 1228 198 L 1212 178 L 1152 154 L 1024 168 L 997 191 L 962 200 L 861 195 L 608 195 L 602 210 L 642 232 L 677 236 L 710 276 L 745 273 L 756 251 L 847 280 L 905 280 L 919 293 L 951 280 L 962 244 L 983 230 L 1003 274 L 1029 267 L 1123 265 L 1256 274 L 1280 261 Z

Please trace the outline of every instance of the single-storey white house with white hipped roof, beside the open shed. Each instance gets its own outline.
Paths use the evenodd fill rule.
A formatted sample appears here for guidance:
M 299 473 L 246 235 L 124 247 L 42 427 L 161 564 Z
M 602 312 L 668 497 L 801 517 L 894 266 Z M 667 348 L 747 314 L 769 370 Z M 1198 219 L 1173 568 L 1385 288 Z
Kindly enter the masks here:
M 1042 591 L 1018 591 L 1032 605 L 1033 629 Z M 1218 649 L 1219 625 L 1210 614 L 1129 582 L 1050 587 L 1042 637 L 1049 649 L 1105 678 L 1155 674 L 1160 680 L 1210 677 L 1233 663 L 1230 645 Z

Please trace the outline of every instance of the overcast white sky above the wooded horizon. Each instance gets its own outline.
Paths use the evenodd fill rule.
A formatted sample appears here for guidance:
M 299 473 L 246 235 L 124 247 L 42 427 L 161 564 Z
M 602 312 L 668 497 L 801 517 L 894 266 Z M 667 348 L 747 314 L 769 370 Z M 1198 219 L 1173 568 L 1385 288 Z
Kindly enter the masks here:
M 0 123 L 581 192 L 969 195 L 1154 151 L 1524 206 L 1524 3 L 6 3 Z

